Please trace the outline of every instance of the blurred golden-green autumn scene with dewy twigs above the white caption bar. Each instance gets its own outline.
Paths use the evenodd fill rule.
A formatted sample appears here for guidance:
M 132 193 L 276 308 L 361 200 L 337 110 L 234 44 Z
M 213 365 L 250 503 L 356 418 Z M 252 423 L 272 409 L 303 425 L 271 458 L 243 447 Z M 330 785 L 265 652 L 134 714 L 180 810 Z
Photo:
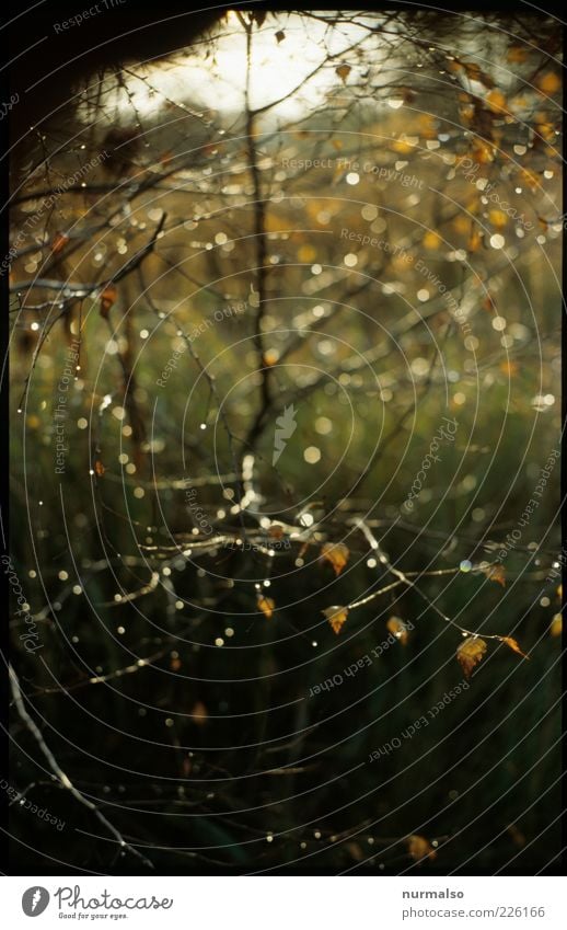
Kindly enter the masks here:
M 18 103 L 13 871 L 552 872 L 556 24 L 210 20 Z

